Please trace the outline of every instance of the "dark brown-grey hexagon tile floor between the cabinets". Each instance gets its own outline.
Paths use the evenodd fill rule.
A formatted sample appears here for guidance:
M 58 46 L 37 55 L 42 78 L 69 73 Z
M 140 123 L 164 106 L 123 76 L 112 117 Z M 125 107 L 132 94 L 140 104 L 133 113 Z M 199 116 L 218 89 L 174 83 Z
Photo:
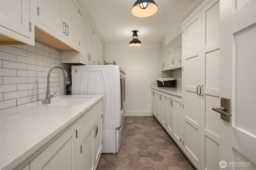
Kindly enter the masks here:
M 102 154 L 97 170 L 195 170 L 154 116 L 125 116 L 117 154 Z

